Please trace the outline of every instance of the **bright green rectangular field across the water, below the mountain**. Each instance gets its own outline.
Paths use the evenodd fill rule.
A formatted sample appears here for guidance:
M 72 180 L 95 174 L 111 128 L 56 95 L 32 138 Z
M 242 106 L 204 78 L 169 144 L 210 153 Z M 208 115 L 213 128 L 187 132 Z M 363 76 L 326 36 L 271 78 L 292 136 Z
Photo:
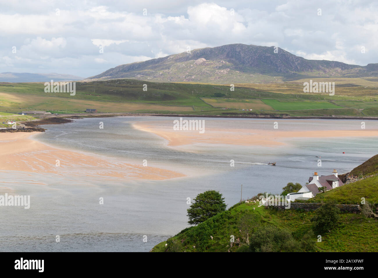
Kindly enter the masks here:
M 309 110 L 309 109 L 335 109 L 341 108 L 335 104 L 326 101 L 309 101 L 309 100 L 278 100 L 263 99 L 266 105 L 273 107 L 274 110 Z

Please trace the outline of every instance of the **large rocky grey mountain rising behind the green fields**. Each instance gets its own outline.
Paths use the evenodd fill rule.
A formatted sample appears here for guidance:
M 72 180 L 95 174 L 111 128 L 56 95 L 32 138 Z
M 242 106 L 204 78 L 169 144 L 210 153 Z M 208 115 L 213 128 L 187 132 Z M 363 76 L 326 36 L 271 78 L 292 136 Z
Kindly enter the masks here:
M 88 79 L 157 82 L 267 83 L 307 77 L 378 76 L 378 64 L 348 65 L 307 60 L 282 48 L 244 44 L 194 49 L 190 53 L 119 65 Z

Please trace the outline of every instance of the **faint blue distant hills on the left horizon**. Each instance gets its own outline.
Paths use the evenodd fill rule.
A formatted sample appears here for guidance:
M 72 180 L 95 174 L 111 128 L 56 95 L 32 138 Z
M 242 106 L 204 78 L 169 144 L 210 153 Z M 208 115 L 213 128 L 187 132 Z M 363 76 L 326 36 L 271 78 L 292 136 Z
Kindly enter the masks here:
M 0 73 L 0 82 L 50 82 L 54 81 L 75 81 L 83 77 L 59 73 Z

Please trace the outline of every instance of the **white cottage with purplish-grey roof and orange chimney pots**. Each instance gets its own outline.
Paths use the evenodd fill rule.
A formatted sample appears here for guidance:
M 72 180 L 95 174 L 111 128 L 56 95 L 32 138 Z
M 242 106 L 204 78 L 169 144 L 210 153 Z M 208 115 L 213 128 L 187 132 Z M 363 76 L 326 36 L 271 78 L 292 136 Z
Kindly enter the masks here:
M 312 177 L 308 179 L 308 184 L 304 185 L 298 192 L 289 193 L 287 199 L 290 201 L 307 200 L 315 197 L 317 194 L 321 193 L 319 190 L 322 187 L 322 192 L 331 190 L 333 188 L 344 185 L 341 179 L 338 177 L 336 169 L 333 169 L 332 175 L 320 176 L 318 172 L 315 172 Z

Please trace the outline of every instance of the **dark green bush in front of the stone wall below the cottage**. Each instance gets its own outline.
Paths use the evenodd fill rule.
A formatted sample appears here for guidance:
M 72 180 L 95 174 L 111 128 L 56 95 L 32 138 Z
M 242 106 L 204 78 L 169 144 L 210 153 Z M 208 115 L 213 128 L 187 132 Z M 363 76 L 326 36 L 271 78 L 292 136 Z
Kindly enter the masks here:
M 335 201 L 327 201 L 319 207 L 311 219 L 315 223 L 314 230 L 319 233 L 329 232 L 338 225 L 340 210 Z

